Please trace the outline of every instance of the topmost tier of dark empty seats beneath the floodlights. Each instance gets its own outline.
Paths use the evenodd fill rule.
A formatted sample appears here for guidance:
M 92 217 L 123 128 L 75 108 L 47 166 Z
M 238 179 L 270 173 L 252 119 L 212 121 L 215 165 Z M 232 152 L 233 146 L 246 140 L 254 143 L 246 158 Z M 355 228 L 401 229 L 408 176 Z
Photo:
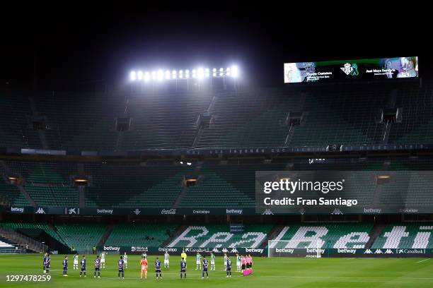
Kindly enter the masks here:
M 393 92 L 396 91 L 396 92 Z M 429 83 L 303 85 L 237 92 L 67 93 L 0 91 L 0 147 L 73 152 L 177 148 L 248 148 L 284 145 L 433 143 Z M 379 109 L 402 108 L 401 123 L 377 123 Z M 202 130 L 200 113 L 212 120 Z M 300 126 L 287 114 L 304 113 Z M 32 117 L 45 117 L 33 130 Z M 131 131 L 115 129 L 132 117 Z

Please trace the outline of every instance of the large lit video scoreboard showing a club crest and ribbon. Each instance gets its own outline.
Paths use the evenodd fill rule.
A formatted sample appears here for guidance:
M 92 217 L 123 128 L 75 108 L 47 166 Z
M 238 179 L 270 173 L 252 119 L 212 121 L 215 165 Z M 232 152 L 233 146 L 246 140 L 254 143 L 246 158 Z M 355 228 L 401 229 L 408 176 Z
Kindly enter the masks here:
M 417 56 L 284 64 L 284 83 L 415 77 L 418 77 Z

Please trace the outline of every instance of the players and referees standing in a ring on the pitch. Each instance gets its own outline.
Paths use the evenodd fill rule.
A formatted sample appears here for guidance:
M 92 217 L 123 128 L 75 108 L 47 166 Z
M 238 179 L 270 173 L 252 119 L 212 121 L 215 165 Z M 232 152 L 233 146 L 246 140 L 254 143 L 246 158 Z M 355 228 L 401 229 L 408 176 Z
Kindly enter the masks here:
M 182 258 L 182 260 L 180 261 L 180 278 L 182 279 L 183 276 L 186 278 L 186 269 L 187 269 L 186 258 L 187 258 L 187 255 L 186 255 L 185 251 L 183 251 L 180 256 Z M 169 254 L 166 252 L 164 254 L 164 267 L 165 268 L 169 268 L 169 257 L 170 257 Z M 201 256 L 200 253 L 197 253 L 196 259 L 197 259 L 196 270 L 198 270 L 200 268 L 200 265 L 202 264 L 203 265 L 202 266 L 203 267 L 202 278 L 204 278 L 204 273 L 206 273 L 207 278 L 209 278 L 209 274 L 207 272 L 208 261 L 206 259 L 206 256 Z M 237 262 L 236 263 L 237 264 L 236 265 L 237 270 L 242 271 L 243 276 L 250 275 L 253 272 L 253 258 L 250 255 L 240 256 L 240 255 L 236 254 L 236 262 Z M 50 273 L 50 265 L 51 265 L 50 253 L 45 253 L 44 259 L 43 259 L 44 273 Z M 74 270 L 76 268 L 75 267 L 76 265 L 78 266 L 78 255 L 77 254 L 74 255 Z M 83 256 L 81 258 L 80 266 L 81 266 L 80 277 L 82 275 L 84 275 L 84 277 L 86 277 L 86 256 Z M 95 278 L 96 278 L 97 273 L 98 273 L 98 278 L 100 278 L 100 269 L 102 268 L 102 266 L 103 266 L 103 268 L 105 268 L 105 253 L 103 253 L 101 257 L 99 255 L 96 256 L 95 275 L 94 275 Z M 122 274 L 122 279 L 123 279 L 125 277 L 124 276 L 125 275 L 124 268 L 127 268 L 126 267 L 127 266 L 126 253 L 124 254 L 124 256 L 120 256 L 120 259 L 117 260 L 117 266 L 118 266 L 118 277 L 120 278 L 120 274 Z M 147 262 L 147 255 L 145 253 L 142 254 L 142 260 L 140 260 L 140 266 L 141 266 L 140 279 L 143 279 L 143 273 L 144 273 L 145 279 L 147 279 L 148 262 Z M 213 253 L 211 253 L 211 270 L 215 270 L 215 256 Z M 231 277 L 231 259 L 229 258 L 229 256 L 226 255 L 226 253 L 224 253 L 224 270 L 226 271 L 226 277 Z M 68 272 L 68 256 L 65 256 L 64 260 L 63 260 L 63 276 L 67 276 L 67 272 Z M 155 272 L 156 272 L 156 279 L 159 279 L 159 278 L 162 279 L 161 260 L 159 260 L 158 257 L 156 257 L 156 260 L 155 260 Z

